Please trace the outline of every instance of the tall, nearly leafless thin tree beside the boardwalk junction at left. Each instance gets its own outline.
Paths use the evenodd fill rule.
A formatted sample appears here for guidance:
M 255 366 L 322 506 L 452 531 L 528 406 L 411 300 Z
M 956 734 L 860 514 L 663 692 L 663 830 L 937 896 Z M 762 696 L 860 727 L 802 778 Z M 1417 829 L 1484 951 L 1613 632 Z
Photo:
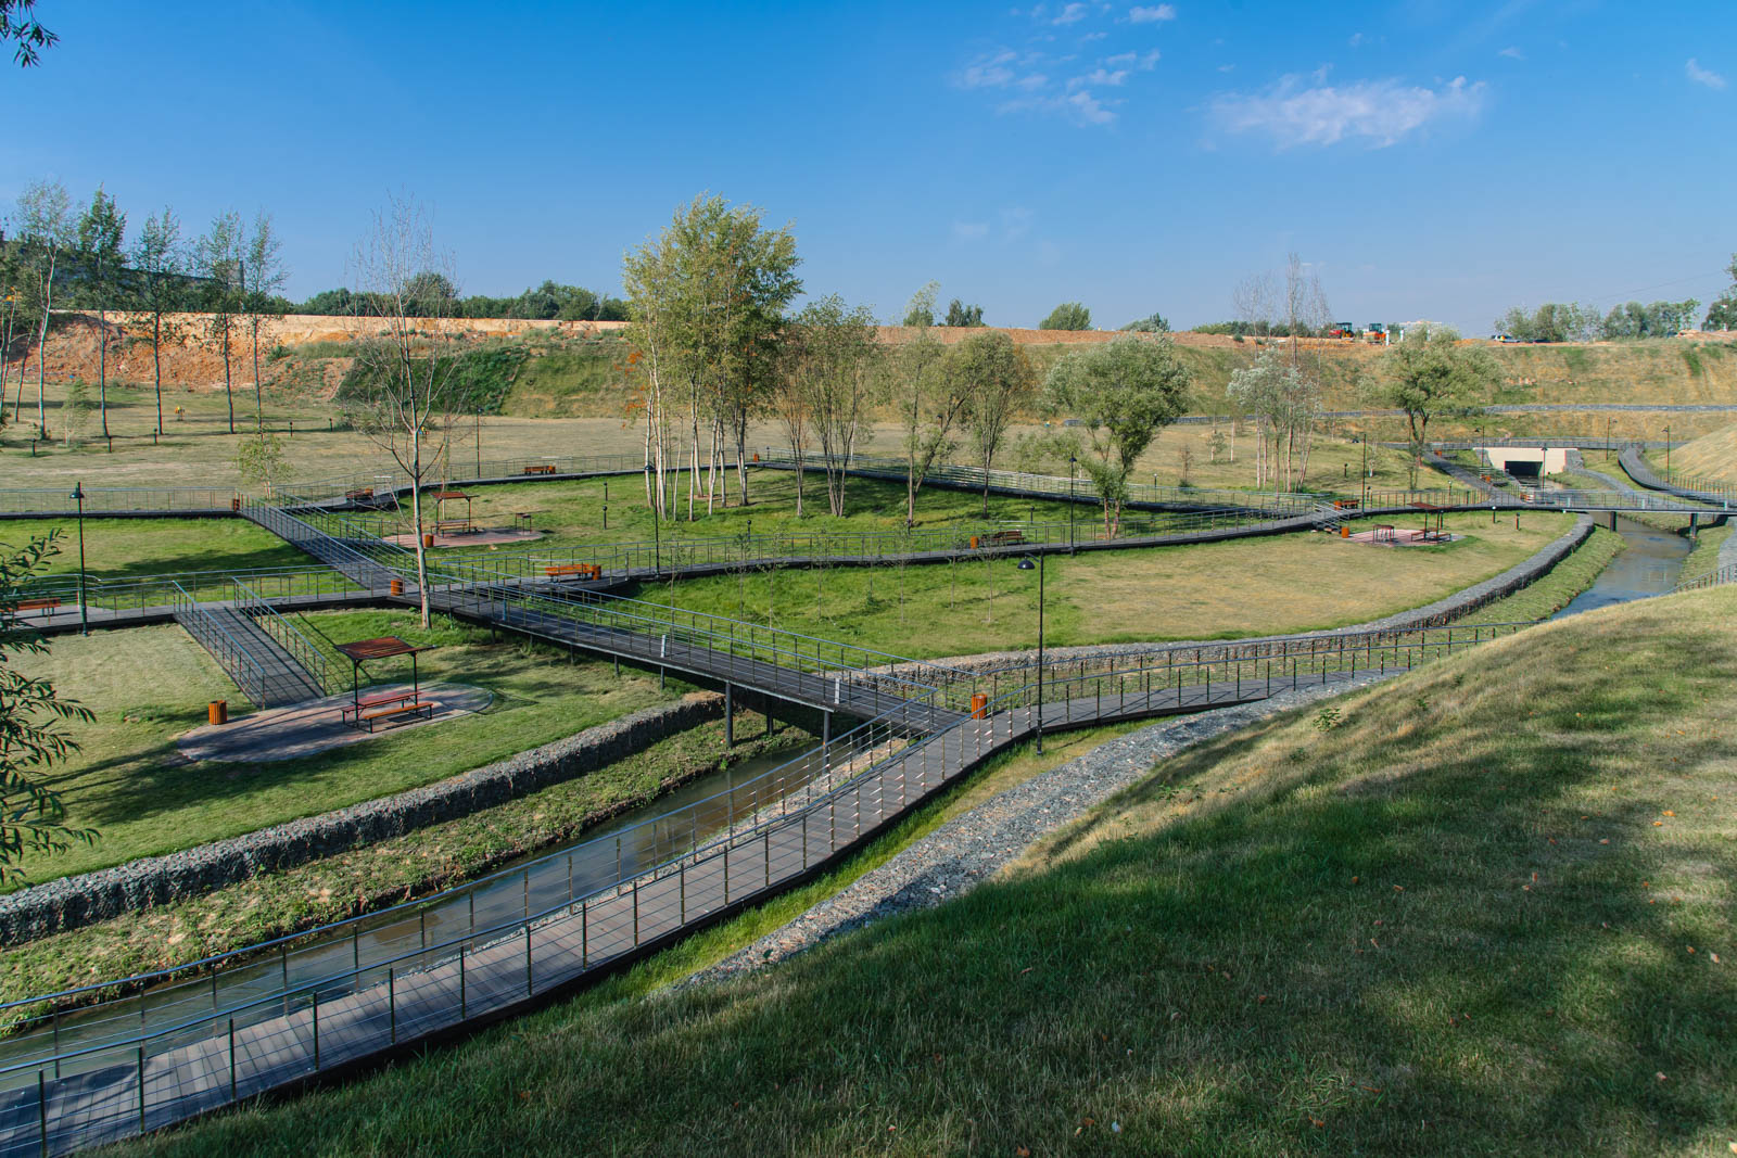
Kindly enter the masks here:
M 379 335 L 365 339 L 356 351 L 356 380 L 363 392 L 358 427 L 410 476 L 417 602 L 426 628 L 429 583 L 422 486 L 445 453 L 459 405 L 453 375 L 459 359 L 452 352 L 457 333 L 439 325 L 453 314 L 452 264 L 434 248 L 427 210 L 410 196 L 389 196 L 356 247 L 354 267 L 370 316 L 380 323 Z

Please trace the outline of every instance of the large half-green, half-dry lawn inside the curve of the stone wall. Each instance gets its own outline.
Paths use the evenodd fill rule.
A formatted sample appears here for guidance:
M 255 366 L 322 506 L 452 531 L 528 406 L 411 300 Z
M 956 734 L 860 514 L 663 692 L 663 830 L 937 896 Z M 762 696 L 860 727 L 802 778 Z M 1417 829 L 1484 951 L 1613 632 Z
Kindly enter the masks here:
M 1360 623 L 1499 575 L 1569 530 L 1572 516 L 1527 512 L 1515 530 L 1508 514 L 1496 526 L 1485 514 L 1456 514 L 1447 526 L 1464 538 L 1391 549 L 1304 533 L 1051 556 L 1046 639 L 1051 646 L 1228 639 Z M 1013 559 L 747 571 L 639 594 L 914 658 L 1037 641 L 1037 573 L 1020 571 Z

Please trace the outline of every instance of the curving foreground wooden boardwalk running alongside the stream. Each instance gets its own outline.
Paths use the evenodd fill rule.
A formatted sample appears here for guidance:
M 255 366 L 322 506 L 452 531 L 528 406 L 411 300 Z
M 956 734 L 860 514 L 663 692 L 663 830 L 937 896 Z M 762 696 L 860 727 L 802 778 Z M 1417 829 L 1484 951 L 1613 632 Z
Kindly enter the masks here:
M 1334 682 L 1350 674 L 1311 675 Z M 1049 731 L 1249 703 L 1294 686 L 1292 677 L 1139 688 L 1044 707 Z M 959 719 L 940 731 L 889 738 L 867 769 L 841 760 L 796 797 L 749 816 L 728 835 L 591 892 L 549 896 L 528 920 L 467 927 L 450 911 L 433 939 L 389 962 L 334 970 L 313 983 L 224 1000 L 214 984 L 153 1010 L 106 1043 L 0 1073 L 0 1156 L 66 1153 L 153 1130 L 354 1063 L 464 1023 L 500 1017 L 551 991 L 667 944 L 702 924 L 759 903 L 884 828 L 908 807 L 1023 741 L 1037 726 L 1023 707 Z M 571 880 L 571 868 L 568 868 Z M 558 877 L 558 873 L 556 873 Z M 347 943 L 342 946 L 347 957 Z M 269 965 L 271 962 L 267 962 Z M 347 964 L 347 962 L 346 962 Z M 144 1024 L 141 1031 L 139 1026 Z

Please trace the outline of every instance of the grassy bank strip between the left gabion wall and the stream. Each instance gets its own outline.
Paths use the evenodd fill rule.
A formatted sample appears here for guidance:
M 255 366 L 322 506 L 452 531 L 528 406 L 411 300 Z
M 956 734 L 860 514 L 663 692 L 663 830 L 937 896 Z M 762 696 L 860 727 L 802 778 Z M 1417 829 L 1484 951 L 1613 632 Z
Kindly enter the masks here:
M 738 715 L 731 764 L 808 740 L 790 729 L 769 738 L 757 734 L 756 720 L 757 715 Z M 749 736 L 750 731 L 756 734 Z M 405 837 L 14 944 L 0 967 L 0 1000 L 170 969 L 427 896 L 570 842 L 603 819 L 717 769 L 724 759 L 723 720 L 702 724 L 585 776 Z

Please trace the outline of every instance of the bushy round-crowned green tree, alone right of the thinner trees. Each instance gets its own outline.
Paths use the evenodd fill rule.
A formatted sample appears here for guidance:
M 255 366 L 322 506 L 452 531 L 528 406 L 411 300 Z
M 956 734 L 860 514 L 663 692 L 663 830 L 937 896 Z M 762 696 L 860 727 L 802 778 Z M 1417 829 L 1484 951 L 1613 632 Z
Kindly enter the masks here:
M 1080 465 L 1098 488 L 1103 528 L 1112 538 L 1122 526 L 1134 460 L 1188 410 L 1190 380 L 1169 339 L 1122 337 L 1075 351 L 1049 368 L 1044 408 L 1073 415 L 1086 427 L 1091 457 Z

